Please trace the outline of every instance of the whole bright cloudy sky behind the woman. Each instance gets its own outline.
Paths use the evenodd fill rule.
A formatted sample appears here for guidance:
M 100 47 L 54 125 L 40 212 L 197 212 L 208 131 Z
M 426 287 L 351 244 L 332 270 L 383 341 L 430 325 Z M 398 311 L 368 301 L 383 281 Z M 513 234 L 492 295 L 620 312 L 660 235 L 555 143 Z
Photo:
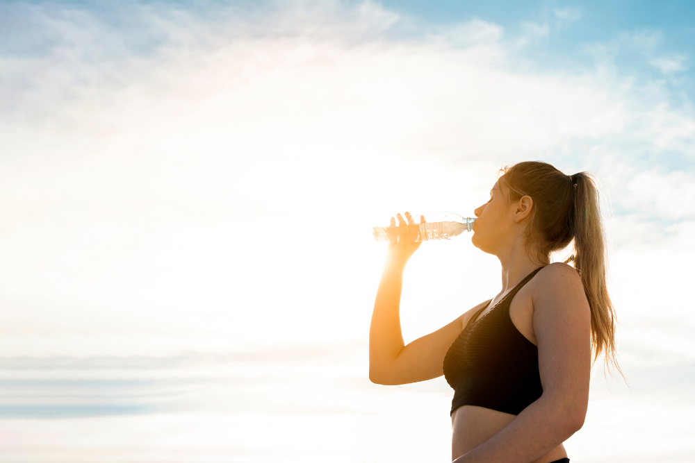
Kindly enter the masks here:
M 367 378 L 394 212 L 543 160 L 600 186 L 627 383 L 572 462 L 695 460 L 695 6 L 0 1 L 0 455 L 445 462 L 443 378 Z M 557 256 L 560 258 L 561 256 Z M 423 244 L 406 342 L 500 291 Z

